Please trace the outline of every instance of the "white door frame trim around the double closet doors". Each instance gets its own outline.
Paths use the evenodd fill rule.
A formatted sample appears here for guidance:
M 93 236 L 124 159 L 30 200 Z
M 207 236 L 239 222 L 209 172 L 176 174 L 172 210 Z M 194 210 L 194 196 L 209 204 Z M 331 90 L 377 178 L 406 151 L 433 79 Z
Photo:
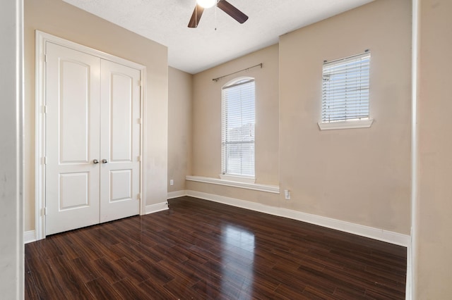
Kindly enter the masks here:
M 107 61 L 126 65 L 130 68 L 134 68 L 140 71 L 141 75 L 141 92 L 140 92 L 140 215 L 145 214 L 145 191 L 143 182 L 145 182 L 145 82 L 146 82 L 146 67 L 139 63 L 128 61 L 124 58 L 119 58 L 111 54 L 77 44 L 61 37 L 49 35 L 48 33 L 36 30 L 35 32 L 35 235 L 36 239 L 45 238 L 45 123 L 44 123 L 44 99 L 45 99 L 45 45 L 46 42 L 52 42 L 60 46 L 81 51 L 86 54 L 97 56 Z

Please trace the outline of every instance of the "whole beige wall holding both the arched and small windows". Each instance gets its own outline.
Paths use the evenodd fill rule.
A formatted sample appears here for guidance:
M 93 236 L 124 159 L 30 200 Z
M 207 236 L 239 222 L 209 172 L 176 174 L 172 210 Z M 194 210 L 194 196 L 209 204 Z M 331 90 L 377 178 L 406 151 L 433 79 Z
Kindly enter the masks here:
M 374 125 L 320 131 L 323 60 L 365 49 Z M 410 0 L 374 1 L 283 35 L 279 47 L 196 74 L 193 175 L 220 173 L 220 89 L 232 77 L 212 78 L 262 60 L 262 70 L 244 74 L 256 77 L 256 180 L 290 189 L 292 200 L 198 182 L 187 189 L 409 234 Z

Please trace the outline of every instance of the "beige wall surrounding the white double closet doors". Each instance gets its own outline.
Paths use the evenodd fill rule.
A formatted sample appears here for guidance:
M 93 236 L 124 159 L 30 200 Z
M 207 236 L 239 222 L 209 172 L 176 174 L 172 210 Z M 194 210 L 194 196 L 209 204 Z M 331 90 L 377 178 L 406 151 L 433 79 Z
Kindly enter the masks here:
M 167 48 L 61 0 L 25 0 L 25 230 L 35 229 L 35 30 L 146 66 L 146 204 L 166 201 Z

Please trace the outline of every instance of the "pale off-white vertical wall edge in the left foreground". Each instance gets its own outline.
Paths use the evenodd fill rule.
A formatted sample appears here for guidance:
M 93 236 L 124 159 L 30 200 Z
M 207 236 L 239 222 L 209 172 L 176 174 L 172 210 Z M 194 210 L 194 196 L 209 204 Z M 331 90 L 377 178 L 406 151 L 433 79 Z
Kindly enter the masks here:
M 0 10 L 0 293 L 24 298 L 24 25 L 23 1 Z

